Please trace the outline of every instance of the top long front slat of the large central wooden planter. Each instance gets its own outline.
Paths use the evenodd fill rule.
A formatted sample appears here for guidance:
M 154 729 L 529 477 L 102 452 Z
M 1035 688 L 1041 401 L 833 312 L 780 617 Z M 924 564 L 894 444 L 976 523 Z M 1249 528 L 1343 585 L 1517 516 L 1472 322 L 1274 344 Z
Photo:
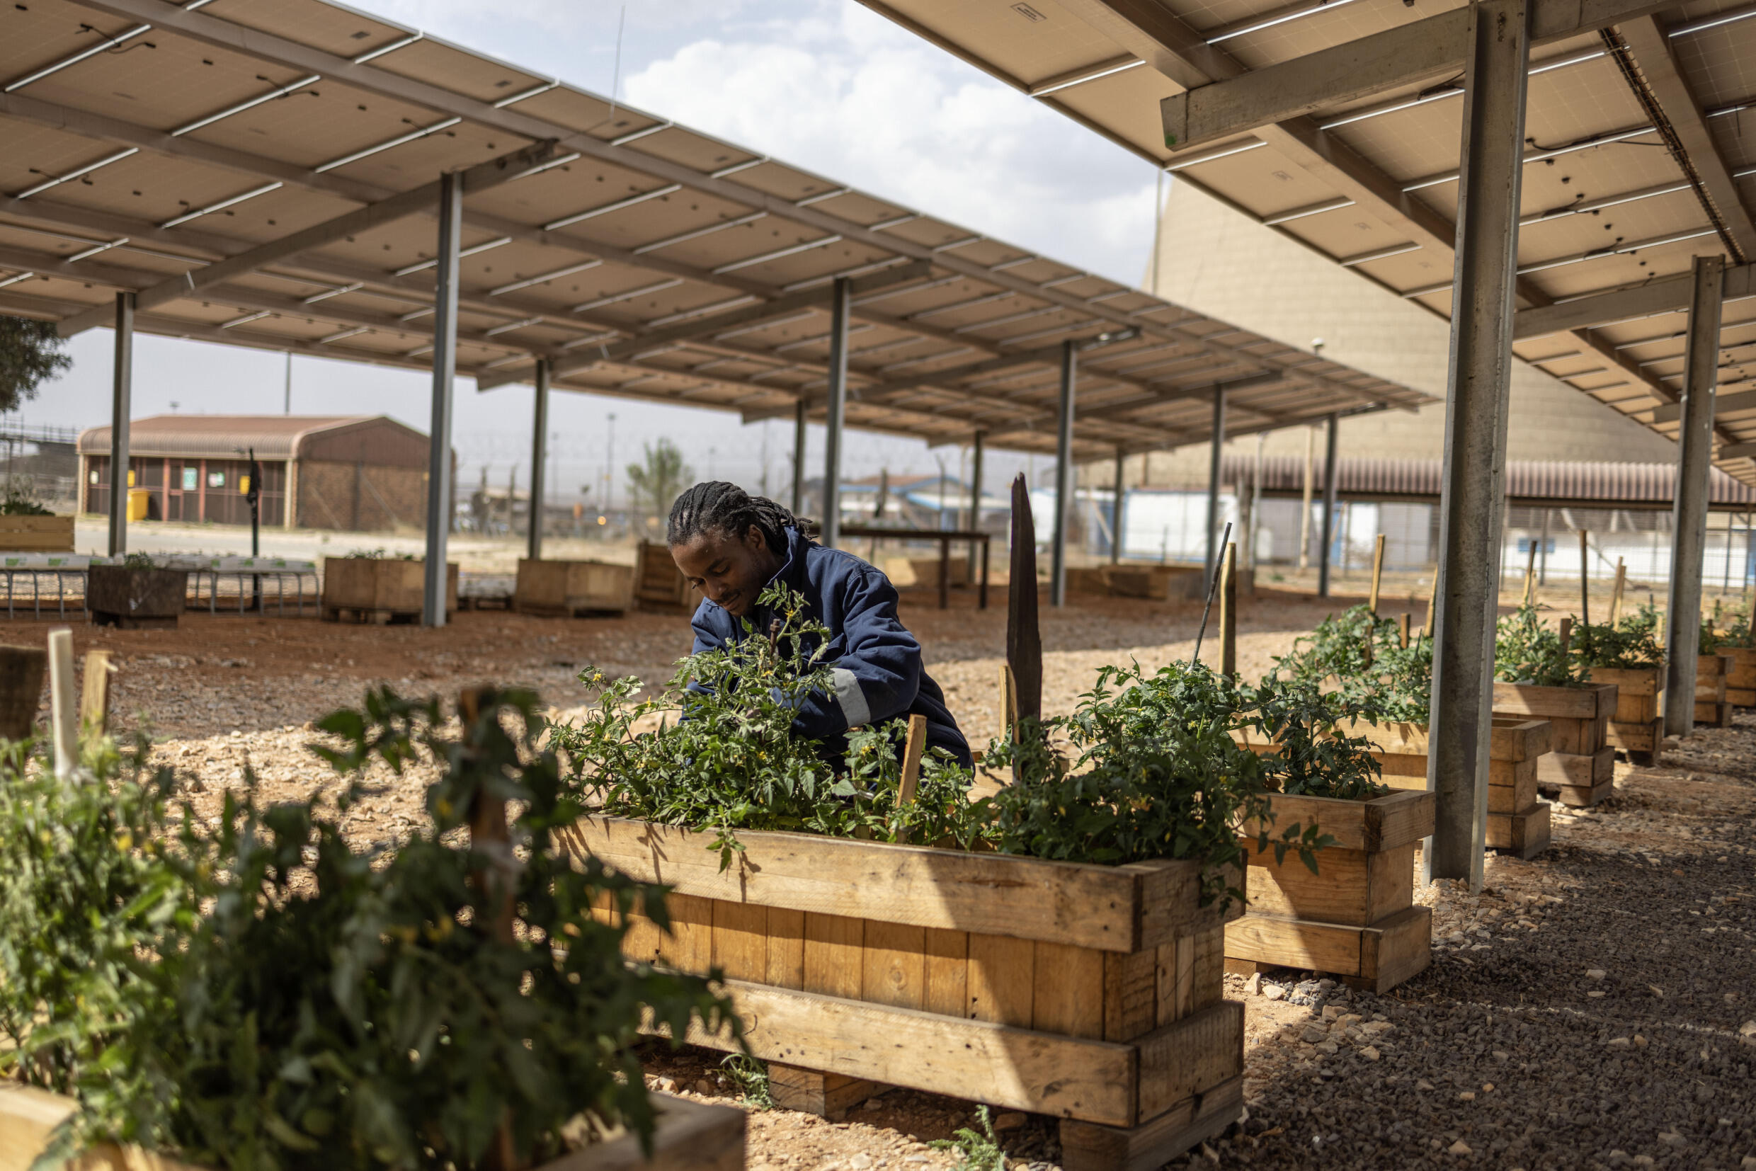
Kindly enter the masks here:
M 709 834 L 585 818 L 569 837 L 623 874 L 685 895 L 1106 952 L 1185 930 L 1192 901 L 1182 892 L 1199 881 L 1194 862 L 1080 866 L 776 832 L 739 834 L 745 851 L 722 873 Z

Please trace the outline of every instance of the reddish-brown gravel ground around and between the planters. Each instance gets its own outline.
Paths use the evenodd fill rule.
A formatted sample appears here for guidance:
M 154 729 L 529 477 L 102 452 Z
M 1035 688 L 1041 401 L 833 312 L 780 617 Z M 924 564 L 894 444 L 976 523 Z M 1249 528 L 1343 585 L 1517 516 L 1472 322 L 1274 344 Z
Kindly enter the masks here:
M 1045 709 L 1064 711 L 1092 671 L 1155 667 L 1192 650 L 1199 604 L 1073 599 L 1043 614 Z M 1263 593 L 1240 613 L 1240 667 L 1259 674 L 1331 604 Z M 1419 620 L 1421 606 L 1415 607 Z M 1391 607 L 1394 613 L 1394 607 Z M 1004 611 L 904 600 L 929 671 L 973 739 L 994 734 Z M 47 623 L 0 623 L 0 643 Z M 265 795 L 323 781 L 307 722 L 358 702 L 367 683 L 453 693 L 493 679 L 574 706 L 585 664 L 648 683 L 688 650 L 680 614 L 551 621 L 464 613 L 444 630 L 313 620 L 205 618 L 174 632 L 76 627 L 116 653 L 116 711 L 216 802 L 246 764 Z M 388 778 L 385 778 L 388 781 Z M 404 776 L 355 813 L 365 839 L 421 818 Z M 1554 815 L 1535 862 L 1489 857 L 1480 895 L 1433 887 L 1433 967 L 1389 995 L 1322 987 L 1310 973 L 1227 978 L 1247 1006 L 1249 1118 L 1178 1166 L 1252 1167 L 1756 1167 L 1756 718 L 1702 730 L 1651 769 L 1617 765 L 1616 797 Z M 651 1055 L 651 1081 L 734 1101 L 718 1055 Z M 943 1167 L 927 1146 L 973 1125 L 975 1103 L 890 1090 L 850 1122 L 792 1111 L 752 1120 L 750 1167 Z M 1055 1166 L 1054 1124 L 1001 1115 L 1013 1166 Z

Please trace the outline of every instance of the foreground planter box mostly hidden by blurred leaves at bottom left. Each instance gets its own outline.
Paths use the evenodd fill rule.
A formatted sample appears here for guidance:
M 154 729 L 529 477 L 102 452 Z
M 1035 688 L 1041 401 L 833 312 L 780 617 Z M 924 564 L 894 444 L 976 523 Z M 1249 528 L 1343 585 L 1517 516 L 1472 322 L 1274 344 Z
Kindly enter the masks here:
M 653 1157 L 641 1141 L 623 1134 L 571 1152 L 534 1171 L 743 1171 L 746 1115 L 736 1106 L 709 1106 L 669 1094 L 653 1094 L 658 1125 Z M 70 1097 L 32 1085 L 0 1085 L 0 1171 L 28 1171 L 49 1143 L 49 1134 L 77 1104 Z M 202 1171 L 139 1148 L 104 1145 L 67 1164 L 77 1171 Z

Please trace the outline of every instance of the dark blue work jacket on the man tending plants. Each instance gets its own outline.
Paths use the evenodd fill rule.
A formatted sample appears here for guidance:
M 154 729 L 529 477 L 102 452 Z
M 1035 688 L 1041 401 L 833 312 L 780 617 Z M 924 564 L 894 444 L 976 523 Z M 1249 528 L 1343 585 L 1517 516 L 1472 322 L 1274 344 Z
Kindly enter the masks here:
M 834 664 L 836 693 L 813 692 L 792 722 L 795 736 L 824 744 L 839 758 L 848 746 L 848 729 L 922 715 L 927 718 L 927 748 L 945 748 L 971 767 L 969 744 L 945 706 L 945 692 L 920 665 L 920 643 L 896 616 L 896 586 L 882 571 L 852 553 L 831 550 L 787 528 L 787 562 L 771 578 L 804 597 L 806 614 L 831 632 L 827 662 Z M 774 614 L 757 606 L 750 630 L 764 632 Z M 702 599 L 690 621 L 695 653 L 736 646 L 746 637 L 741 620 Z M 806 651 L 817 646 L 806 643 Z

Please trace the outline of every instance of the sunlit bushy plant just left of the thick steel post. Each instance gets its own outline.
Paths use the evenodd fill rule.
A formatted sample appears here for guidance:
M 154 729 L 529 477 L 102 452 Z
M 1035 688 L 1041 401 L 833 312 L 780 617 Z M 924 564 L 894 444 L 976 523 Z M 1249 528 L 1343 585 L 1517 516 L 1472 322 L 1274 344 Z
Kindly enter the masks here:
M 1393 618 L 1366 606 L 1331 614 L 1275 660 L 1275 676 L 1319 686 L 1333 681 L 1345 702 L 1368 720 L 1426 723 L 1433 704 L 1433 639 L 1401 644 Z

